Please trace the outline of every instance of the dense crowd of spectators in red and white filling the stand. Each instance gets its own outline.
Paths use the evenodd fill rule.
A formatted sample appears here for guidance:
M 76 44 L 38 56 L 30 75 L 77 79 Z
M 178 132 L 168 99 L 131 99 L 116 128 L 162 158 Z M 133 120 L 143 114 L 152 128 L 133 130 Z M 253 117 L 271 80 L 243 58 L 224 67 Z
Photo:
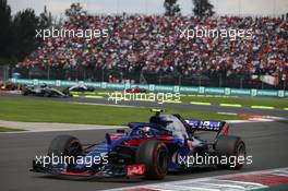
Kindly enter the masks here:
M 279 17 L 85 15 L 63 28 L 108 29 L 108 37 L 49 38 L 21 62 L 31 68 L 89 68 L 147 73 L 269 74 L 287 72 L 288 23 Z M 252 38 L 183 38 L 184 28 L 251 29 Z

